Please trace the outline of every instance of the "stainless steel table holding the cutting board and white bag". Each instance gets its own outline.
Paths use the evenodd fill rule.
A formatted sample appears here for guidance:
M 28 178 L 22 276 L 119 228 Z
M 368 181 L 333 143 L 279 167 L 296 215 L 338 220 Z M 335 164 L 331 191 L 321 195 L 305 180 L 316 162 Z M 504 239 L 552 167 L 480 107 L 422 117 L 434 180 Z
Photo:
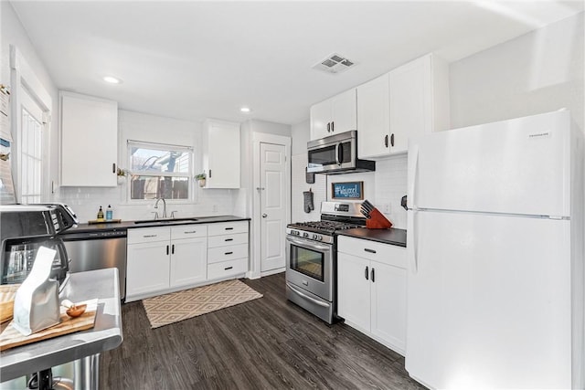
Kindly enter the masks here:
M 76 364 L 76 387 L 97 388 L 99 356 L 122 343 L 122 314 L 118 269 L 72 273 L 59 299 L 73 302 L 98 298 L 95 326 L 0 353 L 0 378 L 8 381 L 47 370 L 58 364 Z M 79 376 L 78 376 L 79 375 Z

